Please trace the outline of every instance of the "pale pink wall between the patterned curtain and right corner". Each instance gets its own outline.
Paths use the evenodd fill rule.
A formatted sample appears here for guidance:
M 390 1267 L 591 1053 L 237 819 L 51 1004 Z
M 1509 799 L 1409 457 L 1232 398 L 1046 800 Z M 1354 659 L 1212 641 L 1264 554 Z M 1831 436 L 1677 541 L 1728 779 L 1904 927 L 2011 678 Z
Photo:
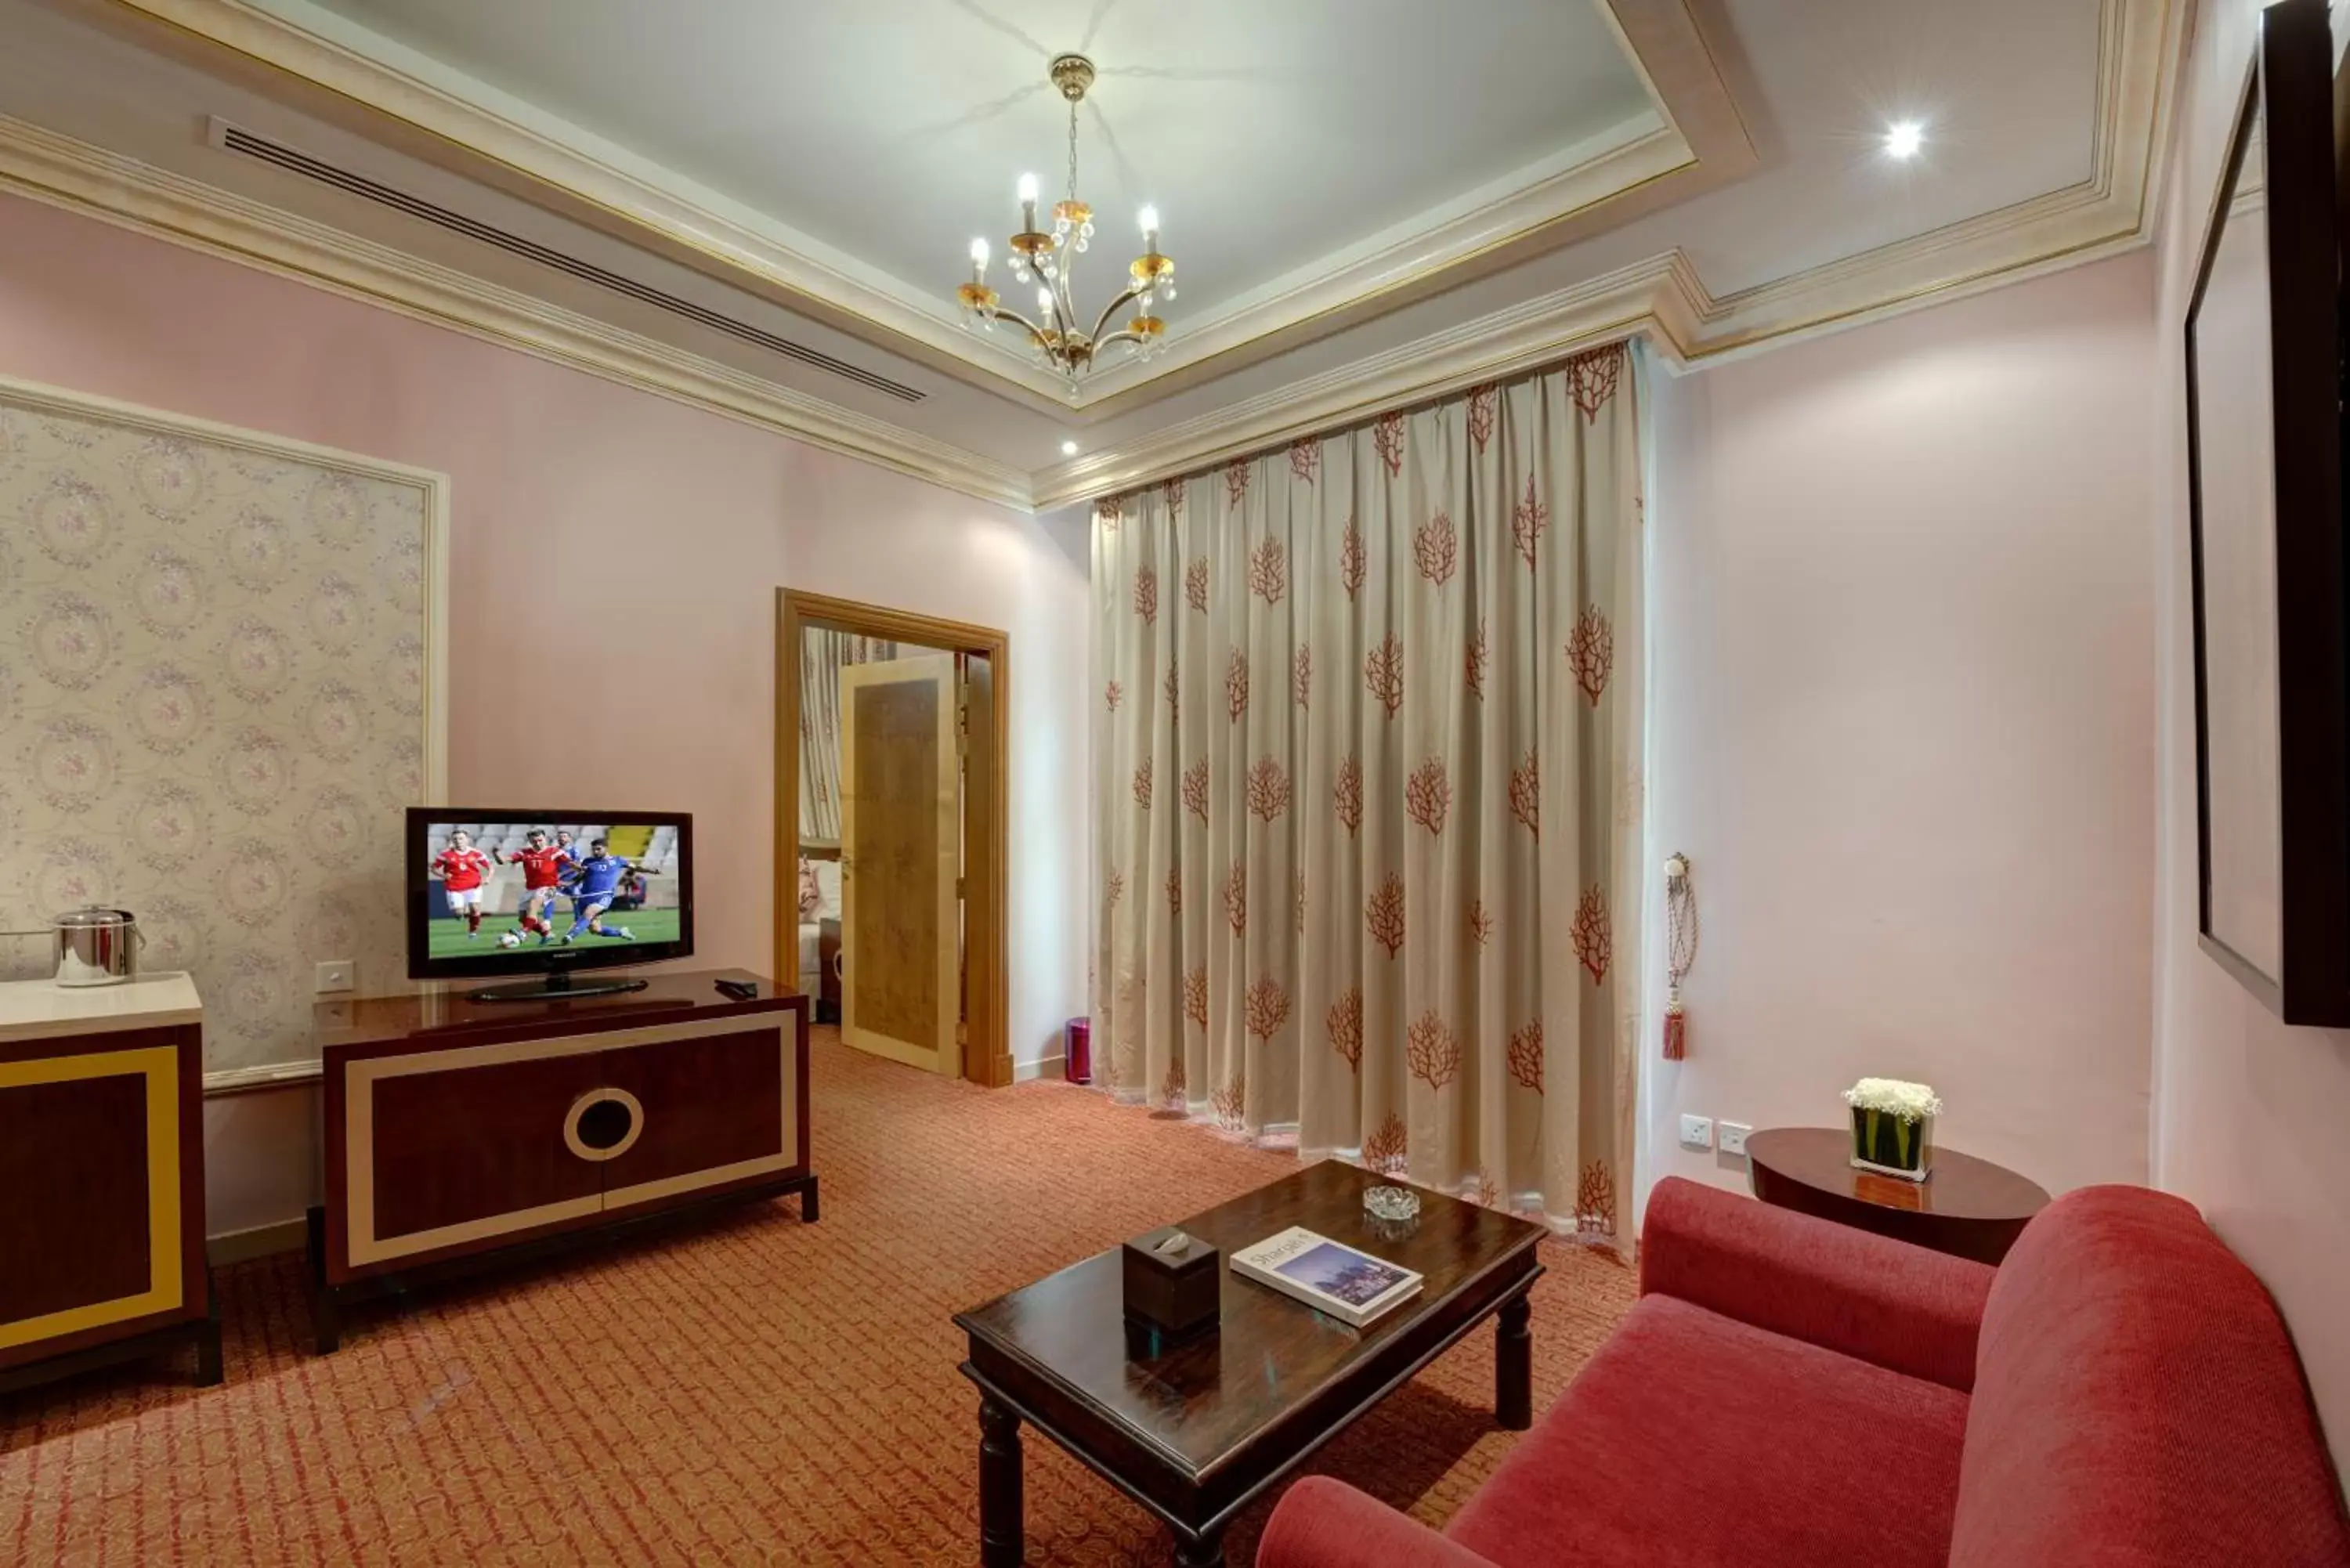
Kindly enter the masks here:
M 1683 1112 L 1861 1074 L 2049 1190 L 2146 1178 L 2150 322 L 2141 254 L 1652 378 L 1652 858 L 1704 940 L 1647 1180 L 1744 1187 Z

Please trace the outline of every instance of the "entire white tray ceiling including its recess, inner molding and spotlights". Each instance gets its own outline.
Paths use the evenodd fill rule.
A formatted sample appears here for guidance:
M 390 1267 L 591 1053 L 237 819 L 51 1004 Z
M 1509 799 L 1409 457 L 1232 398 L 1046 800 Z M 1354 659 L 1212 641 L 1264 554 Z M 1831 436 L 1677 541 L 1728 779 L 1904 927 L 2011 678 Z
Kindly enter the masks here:
M 1692 341 L 1732 353 L 2129 244 L 2143 235 L 2188 0 L 327 5 L 0 0 L 0 188 L 54 193 L 38 160 L 31 183 L 9 179 L 14 118 L 693 355 L 750 400 L 728 393 L 728 411 L 752 407 L 804 433 L 794 409 L 834 407 L 848 435 L 811 440 L 973 494 L 1067 496 L 1262 435 L 1264 409 L 1307 407 L 1311 388 L 1330 416 L 1358 414 L 1354 397 L 1410 390 L 1410 367 L 1452 343 L 1542 350 L 1544 301 L 1664 261 L 1701 306 Z M 1396 240 L 1398 221 L 1410 230 L 1488 200 L 1495 181 L 1523 186 L 1528 165 L 1586 160 L 1612 127 L 1638 129 L 1652 99 L 1626 40 L 1676 122 L 1598 162 L 1664 148 L 1678 172 L 1612 167 L 1610 183 L 1532 230 L 1523 209 L 1492 221 L 1480 209 L 1485 228 L 1457 226 L 1445 242 L 1466 235 L 1466 249 L 1443 256 L 1436 240 Z M 1100 122 L 1088 125 L 1086 169 L 1100 176 L 1081 186 L 1104 209 L 1107 259 L 1123 256 L 1126 207 L 1166 209 L 1184 282 L 1170 336 L 1201 357 L 1156 378 L 1102 374 L 1069 407 L 940 317 L 973 230 L 1010 228 L 1010 181 L 1022 169 L 1053 179 L 1065 110 L 1041 73 L 1076 45 L 1104 68 L 1100 108 L 1137 169 L 1121 176 Z M 1121 75 L 1128 61 L 1168 75 Z M 1673 82 L 1692 80 L 1718 89 L 1711 110 L 1676 96 Z M 1694 125 L 1704 113 L 1711 143 Z M 891 400 L 233 158 L 207 146 L 212 118 L 924 397 Z M 1725 118 L 1737 158 L 1716 158 Z M 1915 162 L 1882 155 L 1896 118 L 1927 127 Z M 482 127 L 486 141 L 475 141 Z M 583 162 L 529 165 L 543 148 Z M 1685 176 L 1706 165 L 1711 179 Z M 573 186 L 566 167 L 616 169 L 618 183 Z M 101 169 L 82 205 L 118 209 L 120 183 Z M 1495 233 L 1535 240 L 1488 244 Z M 1349 240 L 1361 252 L 1365 235 L 1386 235 L 1375 263 L 1311 292 L 1311 308 L 1288 320 L 1248 320 L 1250 289 L 1311 273 Z M 778 256 L 813 259 L 811 270 L 783 273 Z M 1415 287 L 1396 287 L 1417 263 L 1429 268 Z M 310 268 L 306 254 L 296 270 Z M 870 310 L 881 299 L 872 282 L 832 287 L 858 277 L 933 315 Z M 421 306 L 395 303 L 435 315 L 444 294 L 435 282 Z M 1081 299 L 1100 294 L 1081 287 Z M 1222 315 L 1210 322 L 1210 310 Z M 1511 322 L 1525 310 L 1537 317 L 1520 331 Z M 1624 317 L 1589 324 L 1610 320 Z M 761 402 L 761 388 L 780 402 Z M 905 433 L 916 458 L 865 447 L 858 428 Z M 1065 440 L 1081 447 L 1072 461 Z

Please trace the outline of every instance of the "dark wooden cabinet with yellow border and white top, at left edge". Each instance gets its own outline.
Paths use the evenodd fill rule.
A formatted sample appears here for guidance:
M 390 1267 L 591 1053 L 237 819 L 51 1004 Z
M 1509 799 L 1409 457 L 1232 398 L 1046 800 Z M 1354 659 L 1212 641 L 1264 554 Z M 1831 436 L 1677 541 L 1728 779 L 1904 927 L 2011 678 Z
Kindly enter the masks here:
M 221 1380 L 202 1074 L 188 976 L 0 985 L 0 1389 L 188 1342 Z

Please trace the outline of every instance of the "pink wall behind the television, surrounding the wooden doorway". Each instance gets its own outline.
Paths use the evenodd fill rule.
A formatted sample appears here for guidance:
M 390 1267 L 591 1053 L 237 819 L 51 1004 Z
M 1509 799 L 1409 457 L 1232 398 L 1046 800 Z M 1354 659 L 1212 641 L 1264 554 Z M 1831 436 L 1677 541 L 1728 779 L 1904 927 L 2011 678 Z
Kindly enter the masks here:
M 1069 520 L 14 197 L 0 374 L 449 473 L 451 797 L 693 811 L 712 966 L 773 969 L 776 588 L 1008 630 L 1015 1058 L 1083 1011 L 1088 599 Z M 583 769 L 585 750 L 606 762 Z M 212 1105 L 214 1232 L 308 1201 L 303 1100 Z

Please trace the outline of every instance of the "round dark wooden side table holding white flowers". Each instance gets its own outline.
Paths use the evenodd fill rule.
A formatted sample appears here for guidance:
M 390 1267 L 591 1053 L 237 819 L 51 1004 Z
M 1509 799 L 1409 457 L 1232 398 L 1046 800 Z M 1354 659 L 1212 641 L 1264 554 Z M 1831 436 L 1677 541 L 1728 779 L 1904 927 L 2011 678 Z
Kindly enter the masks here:
M 1746 1164 L 1765 1204 L 1990 1265 L 2049 1204 L 2040 1182 L 1941 1145 L 1934 1145 L 1934 1171 L 1922 1182 L 1856 1171 L 1852 1133 L 1835 1126 L 1748 1133 Z

